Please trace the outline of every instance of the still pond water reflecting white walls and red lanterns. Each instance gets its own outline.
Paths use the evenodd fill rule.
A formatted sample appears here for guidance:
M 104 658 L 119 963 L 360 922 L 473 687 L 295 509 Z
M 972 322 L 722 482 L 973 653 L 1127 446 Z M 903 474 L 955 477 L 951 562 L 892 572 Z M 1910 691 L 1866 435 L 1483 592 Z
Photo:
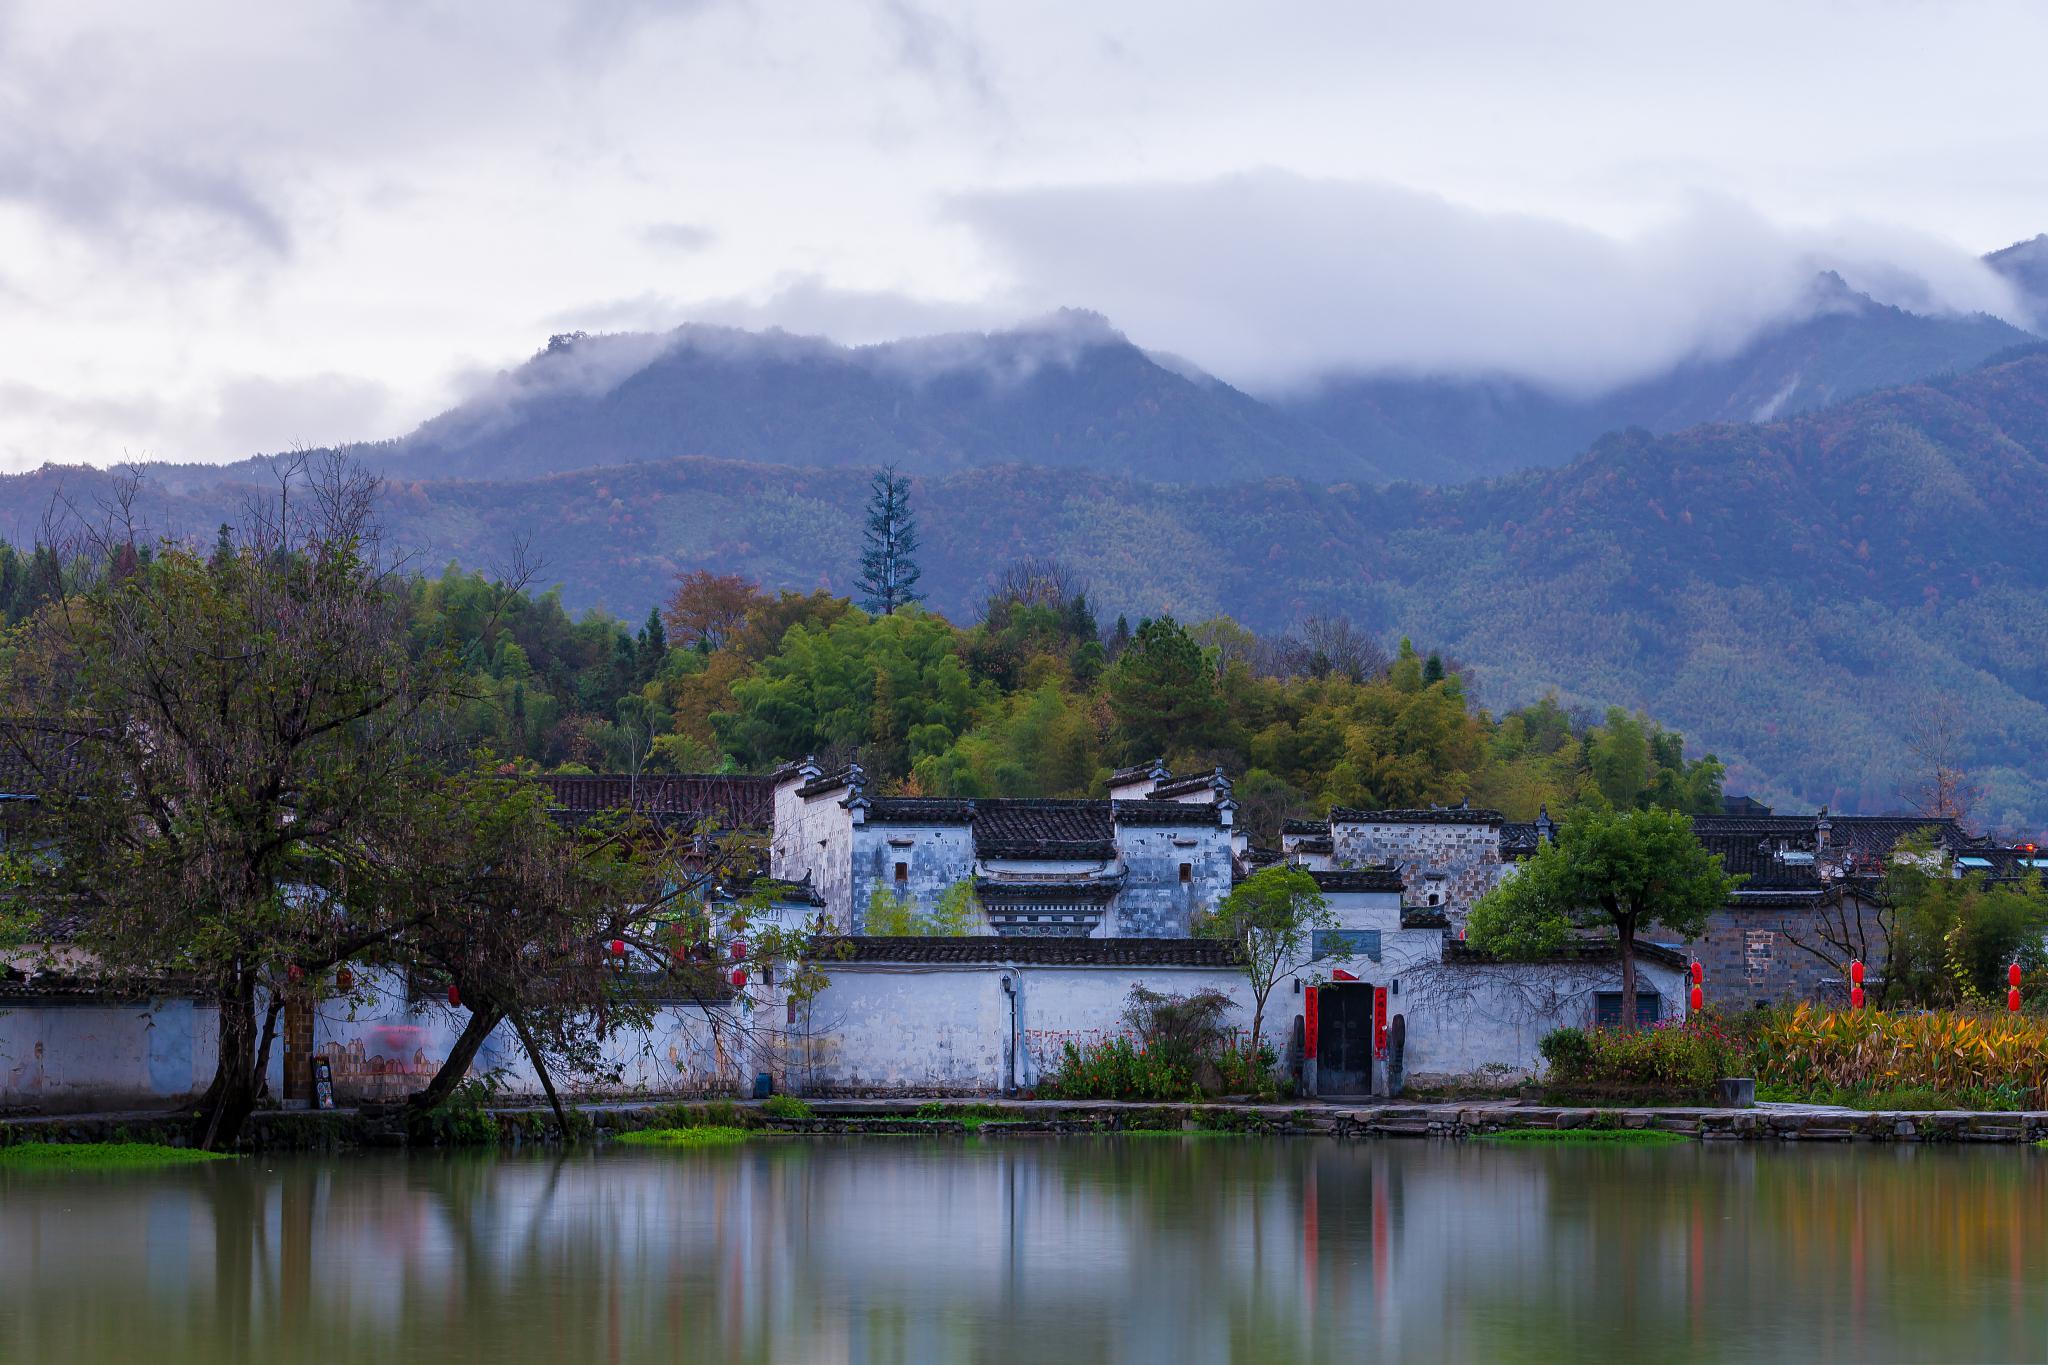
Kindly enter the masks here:
M 2044 1361 L 2048 1152 L 1042 1138 L 0 1175 L 0 1361 Z

